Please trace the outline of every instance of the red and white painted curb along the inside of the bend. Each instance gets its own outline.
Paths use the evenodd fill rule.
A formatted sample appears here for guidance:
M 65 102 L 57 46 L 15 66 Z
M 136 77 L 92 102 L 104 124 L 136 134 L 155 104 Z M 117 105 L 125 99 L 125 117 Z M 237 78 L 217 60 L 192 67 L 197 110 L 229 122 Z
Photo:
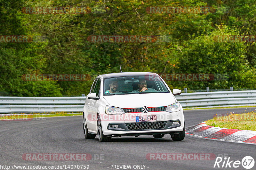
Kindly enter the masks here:
M 256 131 L 245 131 L 208 126 L 205 124 L 205 122 L 188 128 L 186 133 L 202 138 L 256 144 Z

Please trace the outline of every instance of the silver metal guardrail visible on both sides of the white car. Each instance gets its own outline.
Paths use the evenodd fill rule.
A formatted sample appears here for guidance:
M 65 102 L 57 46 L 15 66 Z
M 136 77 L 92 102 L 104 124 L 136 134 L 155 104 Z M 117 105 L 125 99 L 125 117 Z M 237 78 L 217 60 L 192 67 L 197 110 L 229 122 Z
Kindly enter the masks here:
M 182 93 L 175 96 L 182 107 L 256 105 L 256 90 Z M 0 113 L 79 112 L 86 97 L 0 96 Z

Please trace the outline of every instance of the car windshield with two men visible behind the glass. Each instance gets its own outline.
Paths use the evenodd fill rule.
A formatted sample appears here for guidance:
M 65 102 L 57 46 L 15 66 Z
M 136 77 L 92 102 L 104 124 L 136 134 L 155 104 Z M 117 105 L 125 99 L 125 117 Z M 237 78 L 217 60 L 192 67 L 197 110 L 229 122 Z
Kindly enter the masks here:
M 126 76 L 104 79 L 104 96 L 138 94 L 138 93 L 167 93 L 160 76 Z

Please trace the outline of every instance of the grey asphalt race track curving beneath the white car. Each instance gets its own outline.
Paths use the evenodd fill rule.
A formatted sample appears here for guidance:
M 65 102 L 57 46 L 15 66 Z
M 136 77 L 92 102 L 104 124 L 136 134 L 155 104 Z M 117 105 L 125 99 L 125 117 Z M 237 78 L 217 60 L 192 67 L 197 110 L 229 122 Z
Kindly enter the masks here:
M 190 127 L 211 119 L 214 114 L 250 112 L 255 109 L 185 110 L 184 116 L 186 127 Z M 160 139 L 155 139 L 152 135 L 137 138 L 115 137 L 107 143 L 99 142 L 97 136 L 95 139 L 85 139 L 82 116 L 43 118 L 31 121 L 0 121 L 0 151 L 1 170 L 4 169 L 1 167 L 4 165 L 11 167 L 12 165 L 66 165 L 66 167 L 68 165 L 89 165 L 89 169 L 99 170 L 114 169 L 113 165 L 132 165 L 132 167 L 145 165 L 146 170 L 244 169 L 242 165 L 238 168 L 213 168 L 215 159 L 148 160 L 146 159 L 147 153 L 213 153 L 216 157 L 219 154 L 225 154 L 234 161 L 242 161 L 244 156 L 252 156 L 256 161 L 256 145 L 198 138 L 187 134 L 183 141 L 172 141 L 170 135 L 165 135 Z M 89 153 L 92 159 L 85 161 L 23 160 L 22 155 L 26 153 Z M 222 163 L 223 161 L 220 166 Z M 252 169 L 256 169 L 256 165 Z

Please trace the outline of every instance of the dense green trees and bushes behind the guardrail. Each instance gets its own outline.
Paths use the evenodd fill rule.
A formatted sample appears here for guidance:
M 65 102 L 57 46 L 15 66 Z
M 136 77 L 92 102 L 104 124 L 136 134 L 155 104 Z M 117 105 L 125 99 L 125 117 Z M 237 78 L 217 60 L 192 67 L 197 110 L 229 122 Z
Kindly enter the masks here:
M 23 7 L 86 7 L 84 13 L 24 13 Z M 150 13 L 147 7 L 214 8 L 210 13 Z M 0 0 L 0 35 L 46 37 L 0 42 L 0 91 L 14 96 L 88 94 L 97 75 L 146 71 L 221 74 L 212 81 L 167 81 L 170 88 L 256 89 L 256 46 L 216 42 L 256 35 L 256 0 Z M 156 42 L 89 42 L 90 35 L 154 35 Z M 24 81 L 23 74 L 90 74 L 89 81 Z

